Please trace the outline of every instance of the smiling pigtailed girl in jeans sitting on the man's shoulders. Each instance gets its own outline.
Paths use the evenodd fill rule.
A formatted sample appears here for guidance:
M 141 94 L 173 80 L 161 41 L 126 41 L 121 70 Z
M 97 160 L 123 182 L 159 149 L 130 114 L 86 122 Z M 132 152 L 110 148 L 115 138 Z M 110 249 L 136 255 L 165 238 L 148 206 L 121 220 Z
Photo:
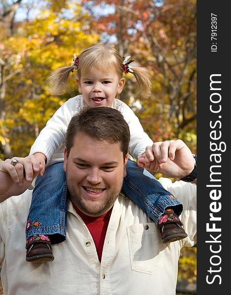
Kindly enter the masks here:
M 51 244 L 66 238 L 67 209 L 62 194 L 66 190 L 65 173 L 62 169 L 63 142 L 68 123 L 75 113 L 86 106 L 106 106 L 119 110 L 130 128 L 129 152 L 137 160 L 145 152 L 145 148 L 153 144 L 133 111 L 115 98 L 122 92 L 125 84 L 123 72 L 130 72 L 135 76 L 136 95 L 150 95 L 151 82 L 147 70 L 131 67 L 133 60 L 128 61 L 129 58 L 122 58 L 110 46 L 94 45 L 78 57 L 74 55 L 70 66 L 61 67 L 50 76 L 51 92 L 61 95 L 68 90 L 69 74 L 77 70 L 77 83 L 82 95 L 70 98 L 58 109 L 30 150 L 30 155 L 33 154 L 44 167 L 46 163 L 47 168 L 44 176 L 38 176 L 35 181 L 26 227 L 27 261 L 54 260 Z M 186 237 L 178 218 L 182 205 L 173 195 L 133 160 L 128 161 L 126 172 L 123 192 L 155 221 L 161 231 L 162 241 L 166 243 Z

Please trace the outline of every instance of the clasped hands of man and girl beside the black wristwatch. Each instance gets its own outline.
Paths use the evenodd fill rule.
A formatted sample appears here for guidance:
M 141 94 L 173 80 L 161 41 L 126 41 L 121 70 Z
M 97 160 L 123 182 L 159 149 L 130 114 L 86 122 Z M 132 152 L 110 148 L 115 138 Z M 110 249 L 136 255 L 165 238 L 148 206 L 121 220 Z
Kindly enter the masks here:
M 194 165 L 195 159 L 191 150 L 179 139 L 157 142 L 148 146 L 138 160 L 140 167 L 178 178 L 189 175 Z

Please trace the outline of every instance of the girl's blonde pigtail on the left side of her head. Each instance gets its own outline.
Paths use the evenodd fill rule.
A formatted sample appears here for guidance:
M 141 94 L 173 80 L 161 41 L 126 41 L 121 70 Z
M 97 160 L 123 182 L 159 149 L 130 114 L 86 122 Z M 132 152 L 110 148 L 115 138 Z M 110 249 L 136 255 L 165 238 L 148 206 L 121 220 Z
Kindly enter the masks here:
M 70 92 L 71 89 L 68 85 L 68 78 L 70 72 L 73 72 L 73 65 L 63 66 L 55 70 L 47 79 L 49 90 L 53 95 L 62 95 Z

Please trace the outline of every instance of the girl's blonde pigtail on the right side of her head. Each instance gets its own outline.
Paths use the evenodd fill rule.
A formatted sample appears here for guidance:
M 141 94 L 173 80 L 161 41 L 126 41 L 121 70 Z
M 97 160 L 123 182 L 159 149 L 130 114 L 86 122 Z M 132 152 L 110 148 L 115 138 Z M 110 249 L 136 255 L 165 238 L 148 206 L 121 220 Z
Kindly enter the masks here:
M 137 81 L 135 97 L 149 98 L 151 96 L 151 77 L 144 67 L 131 67 Z

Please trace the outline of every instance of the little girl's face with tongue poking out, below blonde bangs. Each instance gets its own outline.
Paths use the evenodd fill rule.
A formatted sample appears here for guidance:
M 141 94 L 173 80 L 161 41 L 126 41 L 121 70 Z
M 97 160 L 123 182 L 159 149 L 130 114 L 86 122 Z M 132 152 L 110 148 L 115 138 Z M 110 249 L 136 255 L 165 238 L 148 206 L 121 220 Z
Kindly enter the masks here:
M 112 107 L 116 94 L 121 93 L 125 84 L 115 71 L 103 73 L 93 67 L 78 81 L 79 92 L 85 103 L 91 107 Z

